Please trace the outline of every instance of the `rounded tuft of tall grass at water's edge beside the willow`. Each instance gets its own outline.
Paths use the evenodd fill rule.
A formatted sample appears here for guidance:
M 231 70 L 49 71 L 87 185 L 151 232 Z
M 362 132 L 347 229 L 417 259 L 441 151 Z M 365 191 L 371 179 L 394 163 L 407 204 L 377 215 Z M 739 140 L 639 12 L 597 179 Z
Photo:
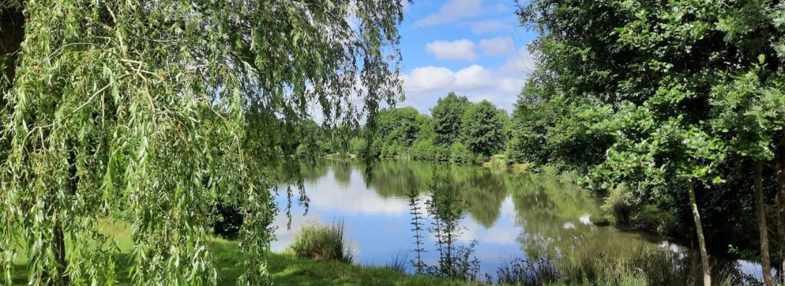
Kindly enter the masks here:
M 307 222 L 294 234 L 289 251 L 298 258 L 352 262 L 353 253 L 344 235 L 343 222 L 322 225 Z

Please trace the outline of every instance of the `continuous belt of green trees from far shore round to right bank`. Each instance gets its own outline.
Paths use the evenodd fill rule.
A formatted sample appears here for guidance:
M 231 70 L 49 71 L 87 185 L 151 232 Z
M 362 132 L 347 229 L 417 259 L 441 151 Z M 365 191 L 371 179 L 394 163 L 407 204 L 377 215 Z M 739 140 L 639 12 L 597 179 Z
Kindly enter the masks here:
M 769 267 L 785 273 L 783 5 L 520 2 L 539 36 L 511 118 L 449 94 L 431 117 L 386 111 L 370 149 L 582 170 L 616 226 L 696 241 L 706 284 L 709 251 L 733 244 L 758 248 L 772 285 Z

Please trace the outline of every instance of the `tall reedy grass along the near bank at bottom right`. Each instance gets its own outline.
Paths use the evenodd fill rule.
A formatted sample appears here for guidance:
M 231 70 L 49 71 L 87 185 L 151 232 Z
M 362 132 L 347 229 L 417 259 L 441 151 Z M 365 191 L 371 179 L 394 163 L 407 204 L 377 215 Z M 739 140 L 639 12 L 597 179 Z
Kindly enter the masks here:
M 712 280 L 717 286 L 758 286 L 741 273 L 736 262 L 715 260 Z M 494 279 L 495 278 L 495 281 Z M 564 249 L 558 259 L 503 263 L 487 284 L 520 286 L 699 286 L 703 285 L 699 255 L 644 244 L 602 244 L 586 241 Z

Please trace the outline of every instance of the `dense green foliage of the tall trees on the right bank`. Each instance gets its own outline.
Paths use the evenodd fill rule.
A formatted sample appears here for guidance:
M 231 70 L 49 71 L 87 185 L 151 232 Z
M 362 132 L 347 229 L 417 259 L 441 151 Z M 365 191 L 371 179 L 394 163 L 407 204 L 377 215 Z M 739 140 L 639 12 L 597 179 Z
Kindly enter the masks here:
M 782 4 L 520 4 L 539 61 L 513 112 L 510 159 L 585 168 L 590 189 L 611 192 L 606 211 L 660 231 L 689 221 L 696 181 L 709 235 L 743 228 L 720 223 L 749 215 L 750 173 L 736 166 L 785 156 Z

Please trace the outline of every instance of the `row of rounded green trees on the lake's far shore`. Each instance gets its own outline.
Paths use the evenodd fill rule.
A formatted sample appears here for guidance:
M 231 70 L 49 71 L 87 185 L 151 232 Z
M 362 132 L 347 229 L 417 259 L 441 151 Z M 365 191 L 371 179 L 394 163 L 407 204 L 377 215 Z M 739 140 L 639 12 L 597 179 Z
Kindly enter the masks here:
M 504 152 L 511 134 L 510 119 L 504 109 L 490 101 L 471 102 L 455 93 L 436 101 L 430 116 L 412 107 L 387 108 L 379 111 L 376 123 L 376 130 L 360 130 L 349 140 L 349 152 L 386 158 L 483 162 Z

